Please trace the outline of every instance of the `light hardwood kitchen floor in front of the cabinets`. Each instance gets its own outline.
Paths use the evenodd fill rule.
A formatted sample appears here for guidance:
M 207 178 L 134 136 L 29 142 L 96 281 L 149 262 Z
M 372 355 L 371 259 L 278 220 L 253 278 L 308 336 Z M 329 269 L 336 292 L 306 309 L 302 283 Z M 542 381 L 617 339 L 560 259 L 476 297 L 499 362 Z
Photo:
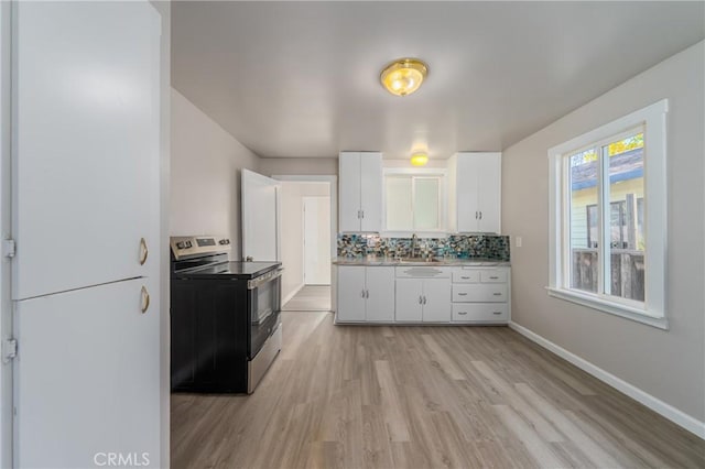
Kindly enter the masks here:
M 705 441 L 506 327 L 283 327 L 254 394 L 172 396 L 172 467 L 705 467 Z

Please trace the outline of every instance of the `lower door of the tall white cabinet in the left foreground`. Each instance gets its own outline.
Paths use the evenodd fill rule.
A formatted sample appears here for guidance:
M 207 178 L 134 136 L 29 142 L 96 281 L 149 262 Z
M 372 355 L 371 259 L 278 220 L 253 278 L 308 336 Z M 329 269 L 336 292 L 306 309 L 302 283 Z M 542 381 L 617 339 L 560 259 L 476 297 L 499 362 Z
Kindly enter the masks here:
M 160 467 L 159 310 L 155 279 L 17 303 L 18 467 L 95 467 L 107 451 Z

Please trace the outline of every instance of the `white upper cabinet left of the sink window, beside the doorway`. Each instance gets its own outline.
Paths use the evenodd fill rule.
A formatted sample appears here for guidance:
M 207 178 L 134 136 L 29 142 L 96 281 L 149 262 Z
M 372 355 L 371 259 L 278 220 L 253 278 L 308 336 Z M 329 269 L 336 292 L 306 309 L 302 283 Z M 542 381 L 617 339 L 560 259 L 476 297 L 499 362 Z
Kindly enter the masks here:
M 379 232 L 382 227 L 382 154 L 340 152 L 340 232 Z

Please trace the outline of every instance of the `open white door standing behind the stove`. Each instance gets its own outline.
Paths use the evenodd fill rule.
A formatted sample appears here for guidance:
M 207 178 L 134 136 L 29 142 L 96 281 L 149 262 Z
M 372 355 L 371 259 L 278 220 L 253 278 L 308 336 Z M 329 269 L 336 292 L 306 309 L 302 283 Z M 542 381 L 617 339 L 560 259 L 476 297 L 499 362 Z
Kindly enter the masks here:
M 242 259 L 280 261 L 279 181 L 242 170 Z

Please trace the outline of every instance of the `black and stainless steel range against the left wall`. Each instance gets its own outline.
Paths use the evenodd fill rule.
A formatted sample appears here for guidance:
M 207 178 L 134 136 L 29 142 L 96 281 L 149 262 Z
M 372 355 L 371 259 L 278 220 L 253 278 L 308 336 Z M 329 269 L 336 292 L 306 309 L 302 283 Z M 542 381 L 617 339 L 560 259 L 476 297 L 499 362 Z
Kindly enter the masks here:
M 229 262 L 215 244 L 172 251 L 174 392 L 250 393 L 281 349 L 281 263 Z

